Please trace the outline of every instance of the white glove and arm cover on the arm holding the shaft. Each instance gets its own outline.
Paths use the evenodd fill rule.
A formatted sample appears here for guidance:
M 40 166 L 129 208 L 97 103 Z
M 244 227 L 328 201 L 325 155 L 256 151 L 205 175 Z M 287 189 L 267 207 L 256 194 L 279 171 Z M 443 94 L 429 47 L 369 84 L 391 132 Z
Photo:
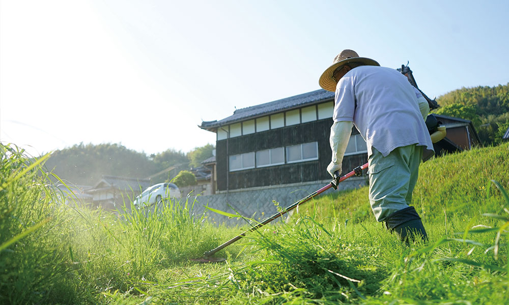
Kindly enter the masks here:
M 350 135 L 352 134 L 352 122 L 334 122 L 330 127 L 330 148 L 332 149 L 332 160 L 327 166 L 327 172 L 334 177 L 334 172 L 342 170 L 343 155 L 347 149 Z

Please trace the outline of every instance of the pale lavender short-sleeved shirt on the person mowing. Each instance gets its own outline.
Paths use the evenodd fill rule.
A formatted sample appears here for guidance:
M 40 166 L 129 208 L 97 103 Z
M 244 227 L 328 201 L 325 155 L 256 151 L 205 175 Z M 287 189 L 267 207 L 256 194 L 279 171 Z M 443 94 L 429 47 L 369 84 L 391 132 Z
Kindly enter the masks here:
M 418 90 L 398 71 L 360 66 L 337 83 L 332 119 L 352 121 L 366 141 L 369 155 L 372 147 L 385 157 L 396 147 L 417 144 L 425 146 L 426 161 L 434 151 L 418 95 Z

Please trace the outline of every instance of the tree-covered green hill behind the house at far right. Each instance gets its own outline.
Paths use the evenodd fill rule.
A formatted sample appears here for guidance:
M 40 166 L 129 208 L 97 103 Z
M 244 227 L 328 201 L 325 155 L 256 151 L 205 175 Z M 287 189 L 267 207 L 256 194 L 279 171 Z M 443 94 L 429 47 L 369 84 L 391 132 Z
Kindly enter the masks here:
M 472 121 L 484 145 L 498 144 L 509 121 L 509 83 L 496 87 L 461 88 L 437 99 L 434 112 Z M 502 131 L 503 130 L 503 131 Z

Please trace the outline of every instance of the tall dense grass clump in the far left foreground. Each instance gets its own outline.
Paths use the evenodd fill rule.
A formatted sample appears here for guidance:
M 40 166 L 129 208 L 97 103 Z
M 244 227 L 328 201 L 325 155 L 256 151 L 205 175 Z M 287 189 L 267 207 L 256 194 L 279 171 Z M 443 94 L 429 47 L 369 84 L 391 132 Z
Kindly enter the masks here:
M 81 294 L 63 246 L 61 194 L 30 159 L 0 144 L 0 303 L 74 303 Z

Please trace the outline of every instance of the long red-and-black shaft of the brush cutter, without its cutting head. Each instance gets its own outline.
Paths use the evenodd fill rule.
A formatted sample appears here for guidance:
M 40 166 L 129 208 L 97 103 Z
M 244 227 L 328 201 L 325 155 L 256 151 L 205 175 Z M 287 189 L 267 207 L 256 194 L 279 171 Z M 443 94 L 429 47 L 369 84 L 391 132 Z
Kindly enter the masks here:
M 362 166 L 359 166 L 359 167 L 360 167 L 360 169 L 361 169 L 361 170 L 363 170 L 363 169 L 366 169 L 366 168 L 367 168 L 367 165 L 368 165 L 368 164 L 366 163 L 366 164 L 364 164 L 364 165 L 362 165 Z M 330 188 L 334 188 L 334 190 L 335 190 L 335 189 L 337 188 L 337 184 L 338 184 L 339 182 L 342 182 L 342 181 L 344 181 L 344 180 L 346 180 L 346 179 L 350 178 L 351 176 L 356 175 L 356 174 L 359 172 L 359 170 L 358 170 L 358 168 L 359 168 L 359 167 L 357 167 L 356 169 L 352 170 L 352 171 L 351 171 L 351 172 L 349 172 L 348 174 L 346 174 L 346 175 L 342 176 L 341 178 L 336 178 L 336 179 L 332 180 L 332 181 L 330 182 L 330 184 L 326 185 L 325 187 L 321 188 L 320 190 L 315 191 L 314 193 L 307 195 L 306 197 L 304 197 L 304 198 L 300 199 L 299 201 L 295 202 L 294 204 L 292 204 L 292 205 L 288 206 L 288 207 L 287 207 L 287 208 L 285 208 L 284 210 L 281 210 L 281 211 L 277 212 L 276 214 L 272 215 L 271 217 L 266 218 L 265 220 L 263 220 L 263 221 L 262 221 L 261 223 L 259 223 L 258 225 L 256 225 L 256 226 L 254 226 L 254 227 L 250 228 L 249 230 L 247 230 L 247 231 L 245 231 L 245 232 L 243 232 L 243 233 L 241 233 L 241 234 L 239 234 L 239 235 L 235 236 L 234 238 L 232 238 L 232 239 L 228 240 L 227 242 L 223 243 L 222 245 L 218 246 L 217 248 L 215 248 L 215 249 L 212 249 L 212 250 L 210 250 L 210 251 L 205 252 L 205 253 L 204 253 L 204 256 L 205 256 L 205 257 L 212 256 L 214 253 L 216 253 L 216 252 L 218 252 L 218 251 L 222 250 L 222 249 L 223 249 L 223 248 L 225 248 L 225 247 L 230 246 L 230 245 L 231 245 L 232 243 L 234 243 L 235 241 L 237 241 L 237 240 L 239 240 L 240 238 L 244 237 L 247 233 L 252 232 L 252 231 L 256 231 L 256 230 L 260 229 L 261 227 L 265 226 L 266 224 L 270 223 L 271 221 L 273 221 L 273 220 L 275 220 L 275 219 L 277 219 L 277 218 L 279 218 L 279 217 L 281 217 L 281 216 L 283 216 L 283 215 L 287 214 L 289 211 L 291 211 L 291 210 L 293 210 L 294 208 L 296 208 L 297 206 L 299 206 L 299 204 L 304 203 L 304 202 L 306 202 L 307 200 L 309 200 L 309 199 L 311 199 L 311 198 L 314 198 L 315 196 L 318 196 L 318 195 L 322 194 L 323 192 L 327 191 L 328 189 L 330 189 Z

